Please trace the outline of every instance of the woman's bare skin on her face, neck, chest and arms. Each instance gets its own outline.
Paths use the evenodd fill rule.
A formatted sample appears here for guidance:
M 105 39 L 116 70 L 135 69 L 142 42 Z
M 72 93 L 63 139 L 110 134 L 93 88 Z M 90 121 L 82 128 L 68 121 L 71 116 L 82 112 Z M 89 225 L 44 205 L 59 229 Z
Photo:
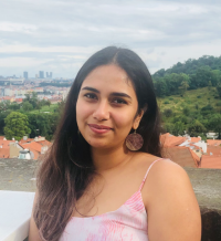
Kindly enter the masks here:
M 124 93 L 129 97 L 113 93 Z M 125 138 L 131 128 L 139 126 L 144 114 L 141 111 L 136 115 L 137 108 L 133 84 L 126 72 L 116 65 L 99 66 L 83 82 L 76 120 L 81 135 L 92 147 L 99 176 L 77 201 L 73 217 L 99 216 L 117 210 L 138 190 L 148 167 L 158 159 L 149 154 L 129 151 L 125 146 Z M 96 134 L 88 124 L 112 129 Z M 156 163 L 147 176 L 141 196 L 148 213 L 150 241 L 200 241 L 199 206 L 190 180 L 180 166 L 167 159 Z M 40 240 L 33 218 L 29 235 L 30 241 Z

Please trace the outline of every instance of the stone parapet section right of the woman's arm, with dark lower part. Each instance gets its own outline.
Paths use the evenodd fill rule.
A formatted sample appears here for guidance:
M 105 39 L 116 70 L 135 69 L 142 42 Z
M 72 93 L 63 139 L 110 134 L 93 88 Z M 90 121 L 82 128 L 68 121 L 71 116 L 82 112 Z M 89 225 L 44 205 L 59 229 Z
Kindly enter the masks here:
M 221 241 L 221 169 L 185 169 L 200 206 L 201 241 Z

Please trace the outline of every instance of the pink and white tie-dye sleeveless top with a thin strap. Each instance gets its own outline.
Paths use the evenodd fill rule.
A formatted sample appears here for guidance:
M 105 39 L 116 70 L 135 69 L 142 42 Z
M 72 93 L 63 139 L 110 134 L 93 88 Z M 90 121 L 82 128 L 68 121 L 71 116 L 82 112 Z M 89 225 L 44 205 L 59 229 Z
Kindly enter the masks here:
M 149 166 L 138 191 L 123 206 L 95 217 L 72 217 L 60 241 L 148 241 L 147 212 L 141 188 L 150 168 L 159 159 Z

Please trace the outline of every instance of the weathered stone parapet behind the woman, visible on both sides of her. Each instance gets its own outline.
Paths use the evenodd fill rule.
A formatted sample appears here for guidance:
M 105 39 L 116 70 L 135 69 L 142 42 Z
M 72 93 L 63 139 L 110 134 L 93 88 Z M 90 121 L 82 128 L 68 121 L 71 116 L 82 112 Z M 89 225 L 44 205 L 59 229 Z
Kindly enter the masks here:
M 0 190 L 34 191 L 36 167 L 36 160 L 0 159 Z M 201 210 L 201 241 L 221 241 L 221 169 L 185 169 Z

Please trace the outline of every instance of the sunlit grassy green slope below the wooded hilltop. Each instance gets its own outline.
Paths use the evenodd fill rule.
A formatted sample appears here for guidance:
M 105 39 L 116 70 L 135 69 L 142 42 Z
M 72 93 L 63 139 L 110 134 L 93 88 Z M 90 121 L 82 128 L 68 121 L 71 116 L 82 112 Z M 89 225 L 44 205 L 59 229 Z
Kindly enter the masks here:
M 215 87 L 187 91 L 182 96 L 159 97 L 162 132 L 173 135 L 201 136 L 215 132 L 221 138 L 221 99 Z

